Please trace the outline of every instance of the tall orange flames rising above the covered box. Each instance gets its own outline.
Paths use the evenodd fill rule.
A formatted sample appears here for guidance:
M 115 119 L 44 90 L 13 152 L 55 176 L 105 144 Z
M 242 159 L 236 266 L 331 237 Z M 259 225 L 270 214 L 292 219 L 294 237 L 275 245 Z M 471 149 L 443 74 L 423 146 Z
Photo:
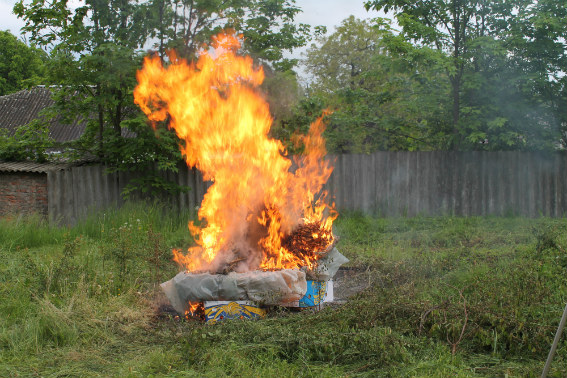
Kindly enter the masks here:
M 175 129 L 187 165 L 213 182 L 198 213 L 204 226 L 189 224 L 199 246 L 173 252 L 189 271 L 311 266 L 333 242 L 336 212 L 321 192 L 333 170 L 324 159 L 322 117 L 295 137 L 304 153 L 294 156 L 292 172 L 282 143 L 268 136 L 272 118 L 258 91 L 264 72 L 236 54 L 241 39 L 220 33 L 197 62 L 171 53 L 165 67 L 147 57 L 137 75 L 136 104 L 152 122 Z M 317 234 L 311 247 L 318 250 L 292 249 L 289 238 L 302 229 Z

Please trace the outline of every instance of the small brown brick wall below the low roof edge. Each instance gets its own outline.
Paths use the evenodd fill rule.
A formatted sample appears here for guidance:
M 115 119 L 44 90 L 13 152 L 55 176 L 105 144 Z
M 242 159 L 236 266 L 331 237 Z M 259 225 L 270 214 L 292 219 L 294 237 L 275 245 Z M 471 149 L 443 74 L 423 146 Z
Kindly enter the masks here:
M 47 174 L 0 172 L 0 216 L 47 215 Z

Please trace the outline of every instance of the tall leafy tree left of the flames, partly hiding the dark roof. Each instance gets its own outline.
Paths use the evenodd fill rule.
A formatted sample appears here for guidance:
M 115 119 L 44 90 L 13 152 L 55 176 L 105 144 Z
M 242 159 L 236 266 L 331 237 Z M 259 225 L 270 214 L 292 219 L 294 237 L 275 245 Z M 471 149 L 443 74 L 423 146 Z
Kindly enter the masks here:
M 147 5 L 87 1 L 73 9 L 65 0 L 33 0 L 17 3 L 14 13 L 24 19 L 22 30 L 30 39 L 51 50 L 49 79 L 60 86 L 58 112 L 91 120 L 90 127 L 98 129 L 96 154 L 103 158 L 105 129 L 119 136 L 120 123 L 133 109 L 129 92 L 141 61 L 137 48 L 150 36 Z

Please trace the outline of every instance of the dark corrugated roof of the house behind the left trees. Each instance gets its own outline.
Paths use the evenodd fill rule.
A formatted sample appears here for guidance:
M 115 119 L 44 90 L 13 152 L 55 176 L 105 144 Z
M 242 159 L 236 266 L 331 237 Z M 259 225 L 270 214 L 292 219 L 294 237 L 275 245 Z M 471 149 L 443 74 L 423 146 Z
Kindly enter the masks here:
M 54 103 L 51 90 L 45 87 L 0 96 L 0 128 L 8 130 L 8 135 L 14 135 L 20 126 L 41 118 L 40 112 Z M 69 142 L 83 135 L 85 128 L 86 122 L 79 118 L 65 124 L 61 117 L 56 117 L 49 122 L 49 136 L 56 142 Z

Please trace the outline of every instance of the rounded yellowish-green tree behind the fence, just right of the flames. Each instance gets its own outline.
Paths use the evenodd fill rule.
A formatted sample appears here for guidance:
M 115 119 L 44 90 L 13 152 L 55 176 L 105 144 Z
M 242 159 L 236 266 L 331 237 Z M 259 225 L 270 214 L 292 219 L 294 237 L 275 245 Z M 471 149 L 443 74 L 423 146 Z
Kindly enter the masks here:
M 300 112 L 330 107 L 326 135 L 334 152 L 440 148 L 442 104 L 439 83 L 444 56 L 415 48 L 394 35 L 384 19 L 345 19 L 306 54 L 312 75 Z M 297 122 L 290 122 L 294 127 Z

